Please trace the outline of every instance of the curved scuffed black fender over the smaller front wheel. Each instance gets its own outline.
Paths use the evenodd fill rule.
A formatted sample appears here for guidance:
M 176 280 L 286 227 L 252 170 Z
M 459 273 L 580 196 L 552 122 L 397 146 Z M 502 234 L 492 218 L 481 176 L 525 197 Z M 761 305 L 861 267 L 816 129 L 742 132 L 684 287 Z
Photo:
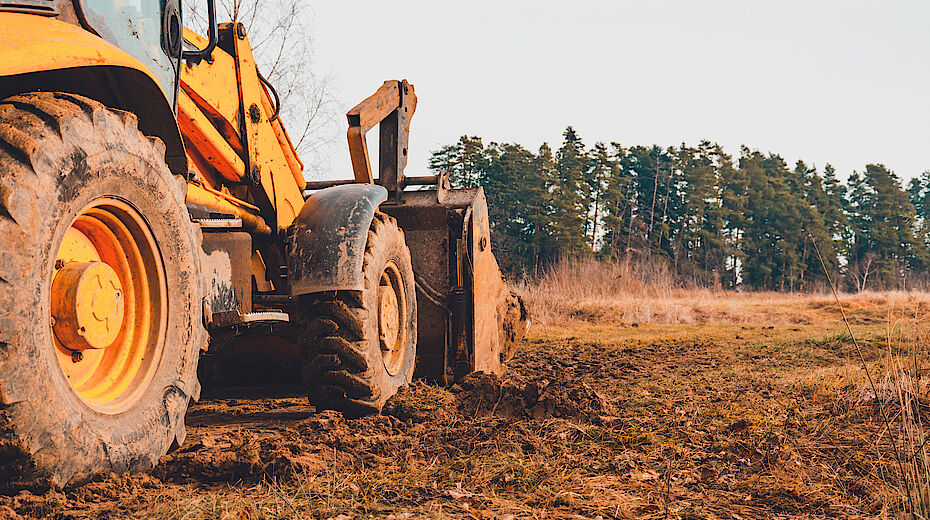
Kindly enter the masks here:
M 304 202 L 289 230 L 291 296 L 365 288 L 368 229 L 387 196 L 382 186 L 345 184 L 320 190 Z

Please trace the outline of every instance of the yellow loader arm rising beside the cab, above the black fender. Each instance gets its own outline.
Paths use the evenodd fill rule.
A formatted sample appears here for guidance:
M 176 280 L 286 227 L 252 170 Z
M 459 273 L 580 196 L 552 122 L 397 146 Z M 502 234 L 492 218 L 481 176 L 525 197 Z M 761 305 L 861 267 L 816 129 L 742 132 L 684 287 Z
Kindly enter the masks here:
M 260 218 L 255 206 L 242 202 L 264 199 L 274 210 L 274 221 L 267 225 L 285 229 L 303 206 L 303 164 L 280 118 L 272 119 L 277 107 L 259 79 L 244 28 L 225 24 L 220 33 L 235 36 L 228 47 L 213 51 L 212 63 L 186 63 L 181 70 L 178 125 L 195 174 L 193 200 L 210 204 L 208 197 L 213 196 L 224 208 L 231 203 L 239 208 L 236 215 L 252 220 Z M 185 38 L 198 47 L 207 45 L 190 31 Z M 250 182 L 261 189 L 233 193 L 221 188 L 224 181 Z

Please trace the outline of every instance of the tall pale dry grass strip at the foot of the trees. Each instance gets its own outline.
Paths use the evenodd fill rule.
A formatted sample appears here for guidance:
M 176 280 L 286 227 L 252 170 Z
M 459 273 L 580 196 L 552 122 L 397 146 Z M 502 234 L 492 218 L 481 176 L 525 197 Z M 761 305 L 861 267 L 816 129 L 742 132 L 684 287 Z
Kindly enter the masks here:
M 828 293 L 735 292 L 682 288 L 654 262 L 571 260 L 538 281 L 516 287 L 533 320 L 542 325 L 601 324 L 815 324 L 837 323 Z M 863 292 L 841 295 L 855 323 L 901 319 L 930 309 L 930 293 Z

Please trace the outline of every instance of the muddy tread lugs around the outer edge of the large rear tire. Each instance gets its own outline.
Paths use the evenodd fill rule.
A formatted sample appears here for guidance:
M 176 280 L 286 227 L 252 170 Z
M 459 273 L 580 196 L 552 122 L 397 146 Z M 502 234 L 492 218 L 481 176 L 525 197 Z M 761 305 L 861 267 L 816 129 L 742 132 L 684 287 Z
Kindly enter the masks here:
M 24 232 L 18 229 L 21 226 L 16 219 L 16 194 L 36 190 L 39 184 L 57 182 L 53 170 L 43 162 L 46 160 L 46 150 L 55 146 L 69 146 L 70 141 L 79 139 L 68 133 L 74 120 L 79 120 L 79 123 L 94 132 L 99 131 L 100 124 L 110 125 L 111 128 L 114 124 L 119 125 L 117 132 L 125 132 L 127 139 L 135 139 L 134 146 L 137 148 L 134 153 L 137 150 L 139 156 L 150 164 L 164 164 L 164 145 L 159 146 L 158 139 L 143 136 L 138 131 L 136 117 L 127 114 L 111 110 L 88 98 L 59 92 L 33 92 L 0 100 L 0 251 L 7 248 L 13 250 L 12 247 L 16 244 L 13 237 Z M 25 173 L 39 176 L 41 183 L 27 178 L 23 175 Z M 179 200 L 183 200 L 184 184 L 170 186 L 177 192 L 173 193 L 174 197 L 181 197 Z M 192 235 L 190 238 L 199 245 L 199 235 Z M 12 265 L 15 264 L 5 263 L 4 255 L 0 253 L 0 281 L 5 284 L 0 285 L 0 288 L 11 285 L 8 279 L 18 279 L 17 273 L 5 272 L 12 269 Z M 206 344 L 207 333 L 202 325 L 197 326 L 195 323 L 190 334 L 192 344 Z M 0 353 L 9 350 L 10 346 L 0 341 Z M 197 347 L 199 354 L 201 345 Z M 166 399 L 166 416 L 160 421 L 160 426 L 152 425 L 166 427 L 165 433 L 171 437 L 170 441 L 173 444 L 180 444 L 185 436 L 184 413 L 181 408 L 186 409 L 190 398 L 196 398 L 199 393 L 196 367 L 186 370 L 182 379 L 184 380 L 179 380 L 176 386 L 166 389 L 167 393 L 163 396 L 163 399 Z M 183 406 L 169 406 L 167 399 L 172 392 L 178 394 L 172 399 L 183 400 Z M 11 418 L 11 407 L 16 405 L 12 401 L 4 388 L 4 382 L 0 380 L 0 475 L 4 476 L 0 479 L 0 489 L 43 489 L 50 485 L 61 486 L 71 481 L 76 471 L 81 471 L 86 477 L 96 472 L 117 471 L 118 467 L 128 468 L 130 471 L 144 470 L 157 463 L 161 456 L 161 453 L 155 453 L 157 449 L 135 457 L 130 455 L 129 450 L 120 449 L 107 451 L 107 457 L 112 460 L 109 463 L 103 462 L 99 467 L 78 467 L 74 461 L 67 460 L 61 461 L 56 467 L 38 466 L 37 457 L 43 452 L 54 451 L 55 448 L 46 444 L 43 439 L 34 440 L 29 446 L 26 445 Z M 105 446 L 104 449 L 106 450 Z

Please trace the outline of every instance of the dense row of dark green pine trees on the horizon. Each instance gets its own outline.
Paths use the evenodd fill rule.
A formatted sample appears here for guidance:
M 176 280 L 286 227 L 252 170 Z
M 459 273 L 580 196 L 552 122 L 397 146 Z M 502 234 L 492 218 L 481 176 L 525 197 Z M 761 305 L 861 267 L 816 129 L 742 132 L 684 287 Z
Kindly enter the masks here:
M 882 164 L 846 182 L 741 147 L 586 146 L 568 127 L 535 152 L 462 136 L 430 168 L 484 187 L 502 267 L 532 276 L 566 256 L 647 257 L 724 289 L 847 290 L 927 284 L 930 172 L 906 186 Z

